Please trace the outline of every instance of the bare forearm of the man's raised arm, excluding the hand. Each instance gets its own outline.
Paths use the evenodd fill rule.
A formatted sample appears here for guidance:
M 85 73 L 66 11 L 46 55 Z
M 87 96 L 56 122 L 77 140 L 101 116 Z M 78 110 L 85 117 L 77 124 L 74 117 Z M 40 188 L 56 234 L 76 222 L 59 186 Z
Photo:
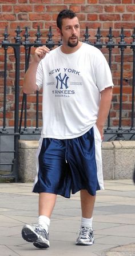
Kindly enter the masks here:
M 37 72 L 38 62 L 32 61 L 29 69 L 25 73 L 23 80 L 23 92 L 24 93 L 34 93 L 38 89 L 36 85 L 36 72 Z

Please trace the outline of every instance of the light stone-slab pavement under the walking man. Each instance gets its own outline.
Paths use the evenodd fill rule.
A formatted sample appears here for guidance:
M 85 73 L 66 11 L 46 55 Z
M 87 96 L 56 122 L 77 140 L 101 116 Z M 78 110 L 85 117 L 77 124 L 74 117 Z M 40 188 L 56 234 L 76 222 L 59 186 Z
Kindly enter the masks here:
M 25 223 L 36 223 L 38 195 L 32 183 L 0 183 L 1 256 L 133 256 L 135 255 L 135 185 L 132 180 L 105 180 L 93 214 L 95 243 L 76 246 L 80 228 L 79 192 L 57 197 L 51 217 L 50 248 L 37 249 L 21 237 Z

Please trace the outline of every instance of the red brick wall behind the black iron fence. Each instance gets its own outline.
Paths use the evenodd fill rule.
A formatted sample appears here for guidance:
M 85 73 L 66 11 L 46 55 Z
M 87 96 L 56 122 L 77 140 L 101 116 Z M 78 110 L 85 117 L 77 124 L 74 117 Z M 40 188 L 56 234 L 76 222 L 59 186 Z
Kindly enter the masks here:
M 114 42 L 120 41 L 121 27 L 124 27 L 125 41 L 132 42 L 133 27 L 135 27 L 135 0 L 0 0 L 0 42 L 3 40 L 5 26 L 8 27 L 9 40 L 14 42 L 15 29 L 19 25 L 22 29 L 21 36 L 25 33 L 25 27 L 29 27 L 30 40 L 36 39 L 35 33 L 39 25 L 42 33 L 42 41 L 46 41 L 49 26 L 53 29 L 53 40 L 59 41 L 55 31 L 55 19 L 59 11 L 70 8 L 76 11 L 81 21 L 81 39 L 85 33 L 85 27 L 89 27 L 90 41 L 96 41 L 97 28 L 101 28 L 101 40 L 108 41 L 109 27 L 113 29 Z M 24 39 L 24 38 L 23 38 Z M 84 38 L 83 38 L 84 39 Z M 20 108 L 22 100 L 22 82 L 24 75 L 24 54 L 21 55 L 21 79 L 20 79 Z M 108 49 L 102 52 L 108 58 Z M 7 73 L 7 126 L 14 124 L 14 52 L 8 51 Z M 125 50 L 124 57 L 124 89 L 122 125 L 130 125 L 131 100 L 132 100 L 132 59 L 133 52 L 130 48 Z M 113 49 L 113 102 L 111 110 L 111 123 L 118 125 L 118 109 L 120 100 L 120 49 Z M 0 48 L 0 125 L 2 125 L 3 109 L 3 49 Z M 42 96 L 40 95 L 40 101 Z M 29 95 L 28 100 L 28 125 L 35 125 L 35 96 Z M 41 104 L 39 105 L 41 108 Z M 41 122 L 41 121 L 40 121 Z M 41 124 L 41 123 L 40 123 Z

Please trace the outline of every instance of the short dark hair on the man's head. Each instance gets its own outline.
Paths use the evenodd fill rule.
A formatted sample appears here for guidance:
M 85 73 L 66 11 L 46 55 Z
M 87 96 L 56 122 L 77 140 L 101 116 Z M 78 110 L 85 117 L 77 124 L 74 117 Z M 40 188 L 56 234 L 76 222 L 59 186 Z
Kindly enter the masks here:
M 62 19 L 65 19 L 65 18 L 73 19 L 74 17 L 77 17 L 77 14 L 74 13 L 74 11 L 72 11 L 72 10 L 64 9 L 64 10 L 60 11 L 60 13 L 58 14 L 58 17 L 57 17 L 57 27 L 59 29 L 61 29 Z

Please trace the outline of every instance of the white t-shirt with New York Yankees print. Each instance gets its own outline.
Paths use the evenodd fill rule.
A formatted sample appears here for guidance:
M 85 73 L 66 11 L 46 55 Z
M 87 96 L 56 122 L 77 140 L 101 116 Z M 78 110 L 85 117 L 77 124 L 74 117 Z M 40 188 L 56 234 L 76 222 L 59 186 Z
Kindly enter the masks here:
M 62 53 L 61 46 L 46 54 L 36 84 L 43 88 L 41 137 L 72 139 L 96 123 L 100 92 L 113 81 L 101 51 L 83 43 L 72 54 Z

